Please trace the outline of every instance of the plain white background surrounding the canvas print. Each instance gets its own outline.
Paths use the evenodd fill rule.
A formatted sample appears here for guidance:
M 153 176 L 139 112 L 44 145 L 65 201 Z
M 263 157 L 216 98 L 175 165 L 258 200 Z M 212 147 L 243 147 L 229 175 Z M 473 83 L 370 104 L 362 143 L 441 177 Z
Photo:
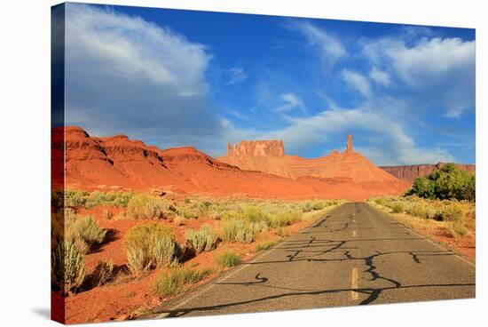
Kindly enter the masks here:
M 462 326 L 481 325 L 482 317 L 486 323 L 483 182 L 487 180 L 483 148 L 488 127 L 483 91 L 488 29 L 483 1 L 105 0 L 103 3 L 476 28 L 476 299 L 177 318 L 123 325 Z M 55 324 L 49 320 L 52 4 L 58 2 L 7 0 L 2 2 L 0 11 L 0 319 L 4 326 Z

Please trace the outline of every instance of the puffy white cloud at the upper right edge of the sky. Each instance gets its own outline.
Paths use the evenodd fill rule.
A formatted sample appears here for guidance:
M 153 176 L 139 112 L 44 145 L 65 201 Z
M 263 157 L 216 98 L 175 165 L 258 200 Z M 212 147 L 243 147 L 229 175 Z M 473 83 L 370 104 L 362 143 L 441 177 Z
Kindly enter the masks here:
M 443 108 L 444 116 L 459 117 L 475 106 L 475 41 L 381 38 L 364 44 L 362 54 L 403 83 L 403 92 L 417 101 L 413 108 Z

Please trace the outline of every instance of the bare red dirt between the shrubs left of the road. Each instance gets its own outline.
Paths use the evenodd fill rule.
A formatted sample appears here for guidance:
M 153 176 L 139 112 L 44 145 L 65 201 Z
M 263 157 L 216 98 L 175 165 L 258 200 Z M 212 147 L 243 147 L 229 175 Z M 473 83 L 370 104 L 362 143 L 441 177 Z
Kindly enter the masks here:
M 108 242 L 104 243 L 97 251 L 86 255 L 87 275 L 90 275 L 99 260 L 114 261 L 114 266 L 122 266 L 126 263 L 125 254 L 122 251 L 123 235 L 138 224 L 148 222 L 158 223 L 172 228 L 177 240 L 183 242 L 185 230 L 196 229 L 201 225 L 209 224 L 218 228 L 219 220 L 215 219 L 188 219 L 185 225 L 176 226 L 171 220 L 130 220 L 130 219 L 104 219 L 103 211 L 113 211 L 116 215 L 121 209 L 98 206 L 92 209 L 80 209 L 79 214 L 92 215 L 98 220 L 100 227 L 110 231 Z M 311 224 L 312 220 L 302 220 L 287 227 L 287 232 L 293 234 Z M 242 260 L 250 259 L 256 252 L 256 244 L 264 241 L 276 240 L 275 232 L 261 233 L 256 242 L 249 244 L 220 243 L 215 251 L 202 252 L 193 259 L 185 262 L 185 265 L 194 267 L 215 267 L 215 257 L 218 253 L 232 250 L 239 253 Z M 159 270 L 153 270 L 138 278 L 123 275 L 119 282 L 109 283 L 104 286 L 94 287 L 88 291 L 82 291 L 71 295 L 66 299 L 66 323 L 96 323 L 113 320 L 127 320 L 138 311 L 147 310 L 161 303 L 161 299 L 151 294 L 151 285 Z M 215 276 L 209 275 L 209 278 Z M 201 282 L 203 283 L 203 282 Z M 162 299 L 166 300 L 166 299 Z

